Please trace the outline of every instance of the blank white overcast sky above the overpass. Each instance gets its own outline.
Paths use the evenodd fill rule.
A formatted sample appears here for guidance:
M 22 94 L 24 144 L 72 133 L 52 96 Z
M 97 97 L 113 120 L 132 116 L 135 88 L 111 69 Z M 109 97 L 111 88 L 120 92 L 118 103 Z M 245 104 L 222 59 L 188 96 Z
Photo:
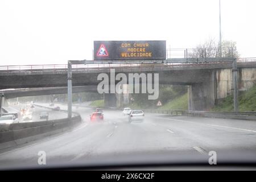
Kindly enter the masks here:
M 222 0 L 222 40 L 241 57 L 256 57 L 254 0 Z M 218 0 L 3 1 L 0 65 L 67 64 L 91 60 L 93 40 L 167 40 L 194 48 L 218 41 Z

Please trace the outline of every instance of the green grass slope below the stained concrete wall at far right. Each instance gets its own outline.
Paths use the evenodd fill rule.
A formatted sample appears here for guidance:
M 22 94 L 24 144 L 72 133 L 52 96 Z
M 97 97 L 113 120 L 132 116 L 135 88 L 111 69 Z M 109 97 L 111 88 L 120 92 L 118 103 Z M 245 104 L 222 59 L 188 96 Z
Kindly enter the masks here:
M 256 111 L 256 85 L 238 96 L 239 111 Z M 233 111 L 233 96 L 224 98 L 211 111 Z

